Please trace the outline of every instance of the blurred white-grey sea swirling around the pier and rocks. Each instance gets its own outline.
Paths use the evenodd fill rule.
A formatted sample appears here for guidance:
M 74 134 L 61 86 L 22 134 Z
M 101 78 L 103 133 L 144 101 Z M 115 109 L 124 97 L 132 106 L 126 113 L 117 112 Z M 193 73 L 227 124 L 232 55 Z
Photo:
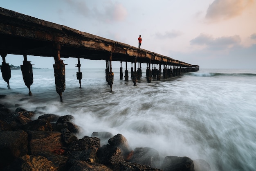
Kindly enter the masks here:
M 112 69 L 112 92 L 105 69 L 66 69 L 63 103 L 53 69 L 34 69 L 32 96 L 21 70 L 11 70 L 9 90 L 0 77 L 0 104 L 42 114 L 74 116 L 76 136 L 122 134 L 131 149 L 151 147 L 165 156 L 187 156 L 209 163 L 211 171 L 256 170 L 256 69 L 201 69 L 151 83 L 142 68 L 137 86 Z M 20 101 L 23 99 L 23 101 Z M 25 100 L 24 100 L 25 99 Z M 106 142 L 108 143 L 108 142 Z

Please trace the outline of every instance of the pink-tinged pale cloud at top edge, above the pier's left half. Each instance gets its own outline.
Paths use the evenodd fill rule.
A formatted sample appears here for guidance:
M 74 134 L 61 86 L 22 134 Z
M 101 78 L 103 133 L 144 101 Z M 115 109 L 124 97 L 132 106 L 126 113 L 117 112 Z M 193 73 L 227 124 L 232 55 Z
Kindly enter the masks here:
M 101 4 L 93 1 L 65 0 L 70 11 L 79 13 L 86 18 L 103 22 L 121 22 L 127 17 L 126 8 L 120 3 L 102 1 Z

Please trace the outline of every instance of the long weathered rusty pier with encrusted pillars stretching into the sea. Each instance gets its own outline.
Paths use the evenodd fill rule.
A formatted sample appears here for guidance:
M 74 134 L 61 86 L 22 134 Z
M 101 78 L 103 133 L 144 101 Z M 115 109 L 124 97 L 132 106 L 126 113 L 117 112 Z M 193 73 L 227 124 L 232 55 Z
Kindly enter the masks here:
M 25 85 L 29 89 L 29 95 L 32 94 L 30 86 L 33 83 L 33 71 L 32 64 L 27 61 L 27 55 L 53 57 L 56 91 L 60 96 L 61 102 L 63 101 L 62 93 L 65 90 L 65 64 L 61 58 L 77 58 L 78 72 L 76 76 L 79 80 L 80 88 L 82 79 L 80 59 L 105 60 L 106 81 L 110 85 L 110 91 L 112 91 L 114 79 L 112 61 L 120 61 L 120 79 L 123 79 L 122 63 L 125 64 L 125 81 L 128 81 L 129 78 L 127 63 L 132 63 L 130 76 L 134 83 L 133 85 L 137 85 L 137 80 L 141 78 L 142 63 L 147 64 L 146 79 L 149 83 L 152 77 L 160 80 L 167 77 L 175 77 L 182 72 L 199 70 L 198 65 L 187 64 L 145 49 L 4 8 L 0 8 L 0 40 L 1 72 L 4 81 L 7 82 L 7 87 L 10 88 L 9 79 L 11 78 L 10 66 L 5 60 L 8 54 L 23 55 L 23 65 L 20 67 Z

